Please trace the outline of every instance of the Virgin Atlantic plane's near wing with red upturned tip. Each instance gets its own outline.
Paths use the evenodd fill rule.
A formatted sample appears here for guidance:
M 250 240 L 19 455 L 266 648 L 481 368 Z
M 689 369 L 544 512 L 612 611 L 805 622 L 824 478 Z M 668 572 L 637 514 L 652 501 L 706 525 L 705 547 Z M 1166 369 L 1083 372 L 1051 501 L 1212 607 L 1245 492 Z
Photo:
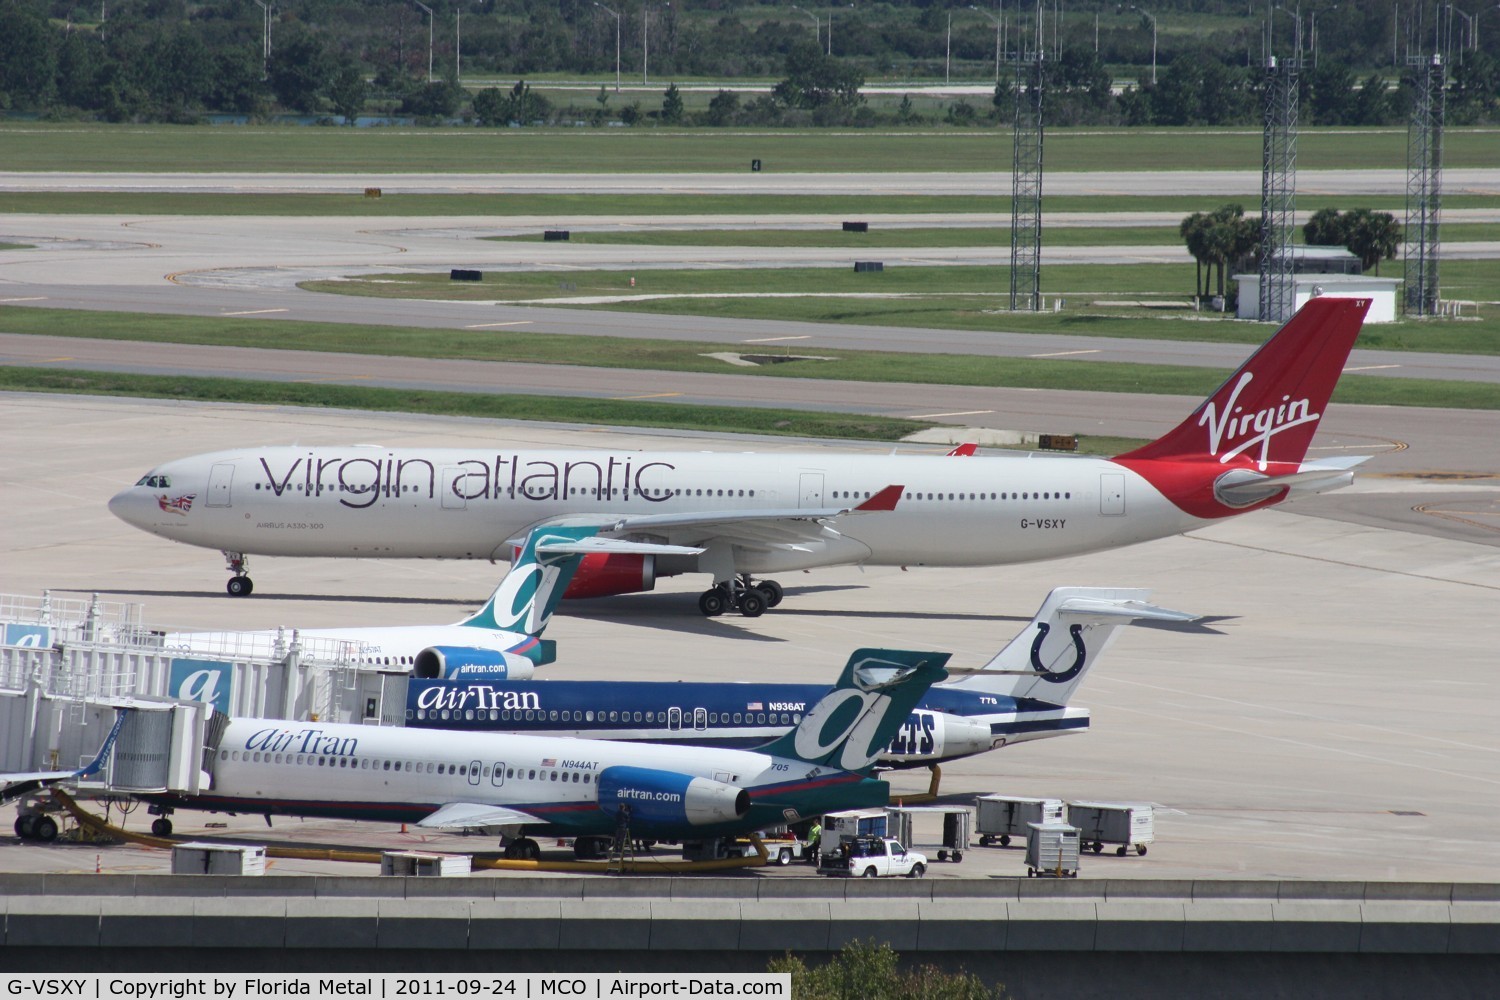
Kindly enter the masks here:
M 676 514 L 630 514 L 626 517 L 566 516 L 558 525 L 594 525 L 602 543 L 621 543 L 632 535 L 669 538 L 678 546 L 702 550 L 710 541 L 730 541 L 744 549 L 796 547 L 816 541 L 830 522 L 854 514 L 896 510 L 904 486 L 886 486 L 855 507 L 788 507 L 782 510 L 716 510 Z M 592 541 L 592 540 L 588 540 Z M 608 549 L 602 549 L 608 550 Z M 658 549 L 644 549 L 656 552 Z

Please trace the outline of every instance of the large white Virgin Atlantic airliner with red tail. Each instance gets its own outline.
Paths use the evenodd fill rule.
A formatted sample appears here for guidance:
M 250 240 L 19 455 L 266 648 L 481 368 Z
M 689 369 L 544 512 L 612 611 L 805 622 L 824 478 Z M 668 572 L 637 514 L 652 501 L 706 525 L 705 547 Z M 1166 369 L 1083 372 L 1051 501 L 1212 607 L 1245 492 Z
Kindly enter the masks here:
M 250 592 L 252 553 L 506 559 L 538 525 L 590 525 L 702 552 L 594 553 L 566 597 L 710 573 L 705 615 L 756 616 L 782 600 L 768 573 L 1071 556 L 1347 486 L 1364 459 L 1306 453 L 1368 309 L 1311 300 L 1176 429 L 1113 459 L 248 447 L 159 465 L 110 510 L 224 550 L 230 594 Z

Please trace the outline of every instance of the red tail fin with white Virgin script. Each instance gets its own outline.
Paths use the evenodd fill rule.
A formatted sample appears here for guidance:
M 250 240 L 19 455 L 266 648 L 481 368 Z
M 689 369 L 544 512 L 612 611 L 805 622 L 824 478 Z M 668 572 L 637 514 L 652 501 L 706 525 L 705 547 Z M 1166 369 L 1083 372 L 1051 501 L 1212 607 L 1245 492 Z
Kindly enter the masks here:
M 1266 471 L 1306 456 L 1368 298 L 1312 298 L 1176 429 L 1118 462 L 1216 459 Z

